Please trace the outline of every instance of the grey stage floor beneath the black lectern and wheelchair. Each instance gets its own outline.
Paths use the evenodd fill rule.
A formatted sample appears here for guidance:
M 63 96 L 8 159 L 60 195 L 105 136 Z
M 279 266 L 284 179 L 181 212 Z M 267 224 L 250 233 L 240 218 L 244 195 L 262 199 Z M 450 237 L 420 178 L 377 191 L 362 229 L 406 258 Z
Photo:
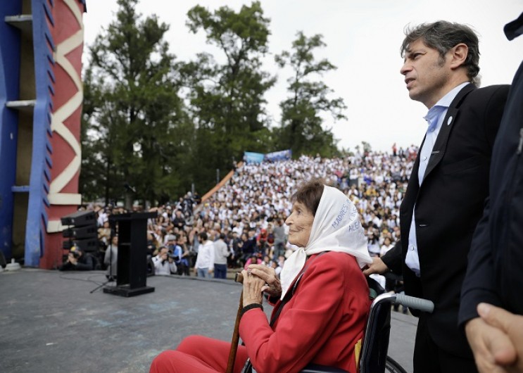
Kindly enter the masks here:
M 232 337 L 241 286 L 231 280 L 154 276 L 153 293 L 91 293 L 104 281 L 99 271 L 1 272 L 0 372 L 148 372 L 185 336 Z M 412 372 L 417 320 L 392 319 L 389 355 Z

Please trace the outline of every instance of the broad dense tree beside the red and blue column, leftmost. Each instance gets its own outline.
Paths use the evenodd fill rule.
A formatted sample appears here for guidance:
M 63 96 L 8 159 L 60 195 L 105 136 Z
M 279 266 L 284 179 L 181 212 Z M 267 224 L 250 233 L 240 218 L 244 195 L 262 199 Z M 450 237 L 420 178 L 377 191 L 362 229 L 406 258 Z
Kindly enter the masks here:
M 118 0 L 116 20 L 90 48 L 84 81 L 90 96 L 83 165 L 105 165 L 99 176 L 106 201 L 126 194 L 125 184 L 137 190 L 134 198 L 151 202 L 187 191 L 187 175 L 177 165 L 193 134 L 178 96 L 175 57 L 163 40 L 168 26 L 156 15 L 141 18 L 136 4 Z

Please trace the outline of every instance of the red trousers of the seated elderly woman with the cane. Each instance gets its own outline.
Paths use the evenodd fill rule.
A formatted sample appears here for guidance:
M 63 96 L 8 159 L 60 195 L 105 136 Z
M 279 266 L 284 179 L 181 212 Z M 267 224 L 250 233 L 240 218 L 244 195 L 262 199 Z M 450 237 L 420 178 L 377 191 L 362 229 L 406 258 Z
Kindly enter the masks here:
M 188 336 L 176 350 L 167 350 L 154 358 L 150 373 L 216 373 L 227 370 L 231 343 L 205 336 Z M 247 360 L 247 349 L 238 346 L 234 373 L 240 373 Z

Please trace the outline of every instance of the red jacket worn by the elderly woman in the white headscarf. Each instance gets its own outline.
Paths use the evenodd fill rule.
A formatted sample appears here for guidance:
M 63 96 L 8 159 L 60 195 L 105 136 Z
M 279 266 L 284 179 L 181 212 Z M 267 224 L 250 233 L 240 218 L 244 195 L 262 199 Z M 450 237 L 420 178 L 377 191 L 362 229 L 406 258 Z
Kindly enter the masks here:
M 298 372 L 309 362 L 356 372 L 370 307 L 365 277 L 346 253 L 311 255 L 305 266 L 272 329 L 259 308 L 241 317 L 239 334 L 248 356 L 258 373 Z

